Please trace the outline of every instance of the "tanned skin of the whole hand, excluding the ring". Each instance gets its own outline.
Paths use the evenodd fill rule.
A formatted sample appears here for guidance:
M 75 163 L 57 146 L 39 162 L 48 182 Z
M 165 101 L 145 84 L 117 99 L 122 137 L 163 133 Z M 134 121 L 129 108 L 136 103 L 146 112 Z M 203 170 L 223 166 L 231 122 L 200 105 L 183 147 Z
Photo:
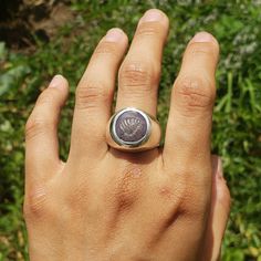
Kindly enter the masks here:
M 31 260 L 218 260 L 230 196 L 210 153 L 219 46 L 207 32 L 188 43 L 171 92 L 164 148 L 124 153 L 105 140 L 116 111 L 156 116 L 168 18 L 149 10 L 128 40 L 112 29 L 81 79 L 67 161 L 58 124 L 69 84 L 56 75 L 27 123 L 24 218 Z M 124 58 L 124 59 L 123 59 Z

